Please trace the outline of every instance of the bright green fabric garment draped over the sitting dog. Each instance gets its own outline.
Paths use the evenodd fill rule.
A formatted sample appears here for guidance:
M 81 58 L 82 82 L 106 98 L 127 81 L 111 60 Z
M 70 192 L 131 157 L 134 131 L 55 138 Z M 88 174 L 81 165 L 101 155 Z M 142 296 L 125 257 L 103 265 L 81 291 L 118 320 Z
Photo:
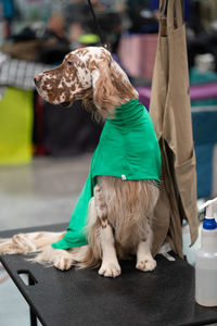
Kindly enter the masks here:
M 130 100 L 116 109 L 114 118 L 106 120 L 67 233 L 52 247 L 68 249 L 87 244 L 88 203 L 93 196 L 97 176 L 155 179 L 159 183 L 159 174 L 161 152 L 151 117 L 139 100 Z

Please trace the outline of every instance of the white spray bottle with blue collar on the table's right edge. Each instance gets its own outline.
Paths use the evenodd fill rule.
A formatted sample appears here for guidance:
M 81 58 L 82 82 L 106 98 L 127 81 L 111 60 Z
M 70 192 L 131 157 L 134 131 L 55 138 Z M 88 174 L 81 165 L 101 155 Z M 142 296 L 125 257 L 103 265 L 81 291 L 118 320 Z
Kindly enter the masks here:
M 217 198 L 205 202 L 201 249 L 195 255 L 195 300 L 205 306 L 217 305 L 217 223 L 215 221 Z

